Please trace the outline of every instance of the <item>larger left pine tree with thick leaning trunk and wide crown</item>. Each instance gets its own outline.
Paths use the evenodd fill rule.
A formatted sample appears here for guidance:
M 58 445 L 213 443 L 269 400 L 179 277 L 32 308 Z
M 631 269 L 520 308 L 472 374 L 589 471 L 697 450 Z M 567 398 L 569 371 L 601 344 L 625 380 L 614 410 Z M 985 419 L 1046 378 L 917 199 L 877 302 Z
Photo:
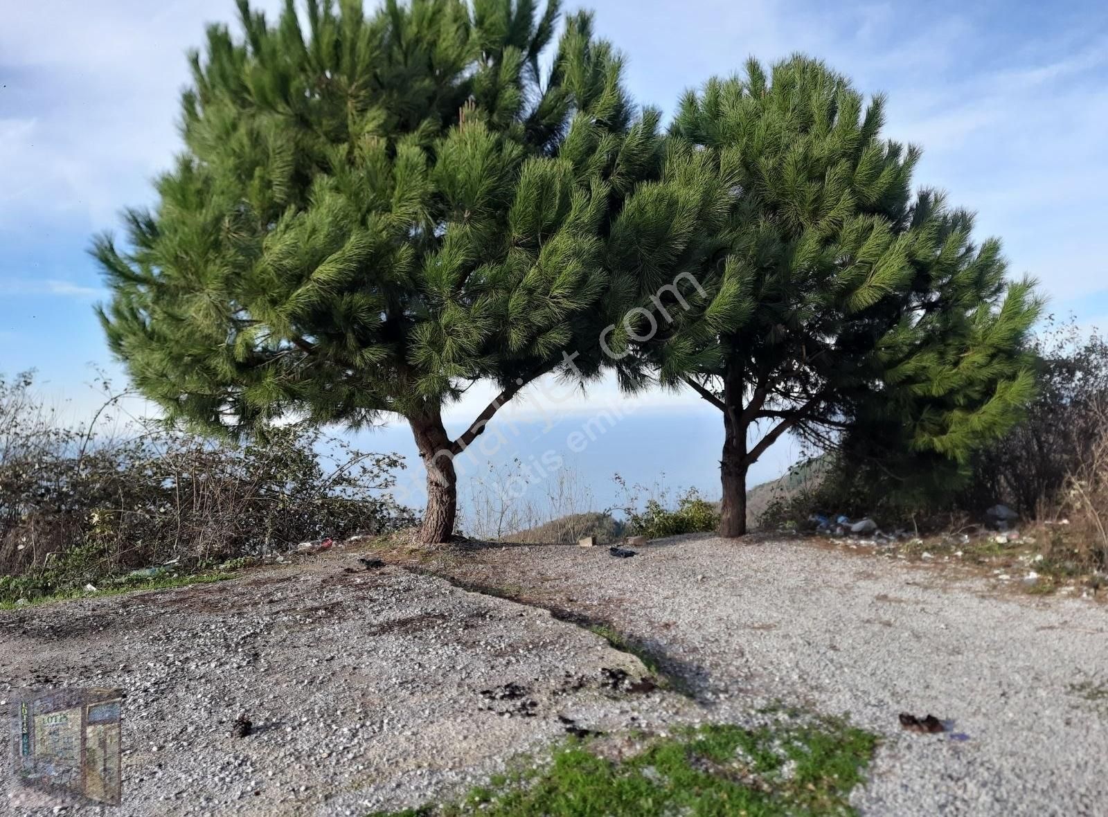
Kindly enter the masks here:
M 112 350 L 171 421 L 261 433 L 288 417 L 407 418 L 428 470 L 423 540 L 454 527 L 453 458 L 636 292 L 612 241 L 654 229 L 624 199 L 660 166 L 588 14 L 533 0 L 293 0 L 191 54 L 185 149 L 127 247 L 94 254 Z M 623 236 L 624 238 L 619 238 Z M 579 341 L 579 342 L 578 342 Z M 579 350 L 571 360 L 567 351 Z M 442 408 L 500 395 L 451 439 Z

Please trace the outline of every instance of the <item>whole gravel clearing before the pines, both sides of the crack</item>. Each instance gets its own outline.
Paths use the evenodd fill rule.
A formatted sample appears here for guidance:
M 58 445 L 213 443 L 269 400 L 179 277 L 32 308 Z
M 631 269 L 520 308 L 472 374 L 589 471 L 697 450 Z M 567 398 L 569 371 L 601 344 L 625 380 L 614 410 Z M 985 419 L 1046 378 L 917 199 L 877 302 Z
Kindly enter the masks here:
M 356 555 L 329 554 L 233 582 L 0 613 L 0 655 L 17 687 L 127 691 L 125 805 L 111 814 L 396 808 L 556 740 L 560 714 L 665 730 L 747 722 L 783 702 L 882 735 L 854 793 L 864 814 L 1108 815 L 1108 700 L 1092 700 L 1108 693 L 1108 610 L 1094 602 L 1013 596 L 961 568 L 707 536 L 628 559 L 470 546 L 423 563 L 525 604 L 350 566 Z M 611 622 L 695 701 L 604 689 L 601 668 L 645 668 L 543 607 Z M 506 683 L 526 692 L 481 694 Z M 948 731 L 904 732 L 904 711 Z M 239 712 L 260 728 L 236 740 Z

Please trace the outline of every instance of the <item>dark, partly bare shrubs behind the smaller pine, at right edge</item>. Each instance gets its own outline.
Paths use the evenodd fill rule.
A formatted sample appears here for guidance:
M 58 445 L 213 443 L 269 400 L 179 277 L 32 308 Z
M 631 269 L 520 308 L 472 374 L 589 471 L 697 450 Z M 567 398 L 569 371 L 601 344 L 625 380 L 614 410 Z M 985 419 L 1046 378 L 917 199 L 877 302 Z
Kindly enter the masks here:
M 1096 331 L 1083 332 L 1073 320 L 1048 319 L 1030 347 L 1037 369 L 1035 399 L 1019 423 L 964 466 L 915 454 L 897 456 L 880 447 L 863 449 L 858 441 L 830 441 L 832 453 L 823 457 L 828 467 L 818 484 L 773 504 L 761 523 L 802 525 L 819 510 L 929 530 L 979 518 L 996 503 L 1024 518 L 1068 513 L 1076 521 L 1079 486 L 1097 484 L 1089 472 L 1096 470 L 1092 463 L 1106 423 L 1108 341 Z M 835 443 L 843 442 L 835 449 Z

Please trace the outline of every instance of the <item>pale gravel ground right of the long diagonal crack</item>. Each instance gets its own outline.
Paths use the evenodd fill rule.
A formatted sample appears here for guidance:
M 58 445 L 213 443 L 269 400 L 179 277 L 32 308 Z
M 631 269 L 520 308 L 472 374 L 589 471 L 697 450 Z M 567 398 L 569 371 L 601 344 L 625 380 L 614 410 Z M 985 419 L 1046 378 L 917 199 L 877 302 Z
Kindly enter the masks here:
M 883 743 L 852 802 L 873 815 L 1108 815 L 1108 609 L 1015 596 L 963 568 L 798 541 L 479 548 L 437 569 L 611 621 L 714 716 L 767 701 Z M 1095 690 L 1104 697 L 1096 699 Z M 933 713 L 942 735 L 901 728 Z

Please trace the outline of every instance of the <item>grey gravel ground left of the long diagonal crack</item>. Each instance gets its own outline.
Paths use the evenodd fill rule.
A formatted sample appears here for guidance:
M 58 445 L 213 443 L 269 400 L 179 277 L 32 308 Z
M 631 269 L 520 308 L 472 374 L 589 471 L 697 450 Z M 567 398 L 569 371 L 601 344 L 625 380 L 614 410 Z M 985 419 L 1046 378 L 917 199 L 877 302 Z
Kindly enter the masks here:
M 646 669 L 546 611 L 356 558 L 0 612 L 0 711 L 12 689 L 124 690 L 124 800 L 104 810 L 120 817 L 401 808 L 564 737 L 558 715 L 606 731 L 696 716 L 676 694 L 604 687 L 602 668 Z M 236 738 L 239 713 L 255 731 Z M 50 814 L 7 795 L 0 814 Z

